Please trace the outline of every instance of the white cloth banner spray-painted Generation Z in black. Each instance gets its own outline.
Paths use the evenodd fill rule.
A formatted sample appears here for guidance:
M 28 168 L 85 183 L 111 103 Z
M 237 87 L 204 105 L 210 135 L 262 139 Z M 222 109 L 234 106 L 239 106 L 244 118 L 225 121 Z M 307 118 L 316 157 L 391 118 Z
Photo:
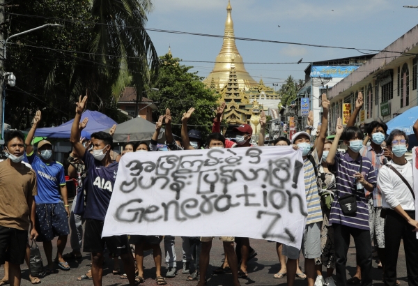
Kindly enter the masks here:
M 102 236 L 241 236 L 300 248 L 302 152 L 291 146 L 126 153 Z

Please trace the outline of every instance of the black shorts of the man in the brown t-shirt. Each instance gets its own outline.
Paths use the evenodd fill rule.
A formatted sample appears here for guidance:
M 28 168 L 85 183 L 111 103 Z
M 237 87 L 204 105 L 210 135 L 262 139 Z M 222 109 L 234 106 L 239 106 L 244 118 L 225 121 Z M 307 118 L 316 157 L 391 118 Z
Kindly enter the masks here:
M 5 261 L 23 264 L 27 243 L 27 230 L 0 226 L 0 265 Z

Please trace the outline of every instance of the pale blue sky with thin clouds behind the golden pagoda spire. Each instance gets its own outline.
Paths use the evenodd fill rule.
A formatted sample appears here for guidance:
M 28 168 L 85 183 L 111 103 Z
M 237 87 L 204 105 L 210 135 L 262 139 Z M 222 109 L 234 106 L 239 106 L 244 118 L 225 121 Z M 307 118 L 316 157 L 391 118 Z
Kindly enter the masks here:
M 154 0 L 147 28 L 224 34 L 227 0 Z M 418 24 L 418 0 L 231 0 L 235 37 L 382 50 Z M 278 27 L 280 26 L 280 27 Z M 173 57 L 215 61 L 222 38 L 149 31 L 159 55 L 171 45 Z M 418 42 L 418 39 L 417 39 Z M 309 63 L 361 55 L 355 50 L 237 40 L 245 67 L 257 82 L 281 84 L 288 75 L 304 79 Z M 188 63 L 206 77 L 214 63 Z

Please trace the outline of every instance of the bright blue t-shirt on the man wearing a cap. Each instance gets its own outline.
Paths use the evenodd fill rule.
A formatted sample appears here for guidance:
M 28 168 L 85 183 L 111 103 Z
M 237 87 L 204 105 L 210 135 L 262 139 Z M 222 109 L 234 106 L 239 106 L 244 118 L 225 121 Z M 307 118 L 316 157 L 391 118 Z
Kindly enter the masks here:
M 36 204 L 57 204 L 61 202 L 59 189 L 66 184 L 63 165 L 56 161 L 44 163 L 33 151 L 26 155 L 29 164 L 36 172 L 38 183 L 38 195 L 35 196 Z

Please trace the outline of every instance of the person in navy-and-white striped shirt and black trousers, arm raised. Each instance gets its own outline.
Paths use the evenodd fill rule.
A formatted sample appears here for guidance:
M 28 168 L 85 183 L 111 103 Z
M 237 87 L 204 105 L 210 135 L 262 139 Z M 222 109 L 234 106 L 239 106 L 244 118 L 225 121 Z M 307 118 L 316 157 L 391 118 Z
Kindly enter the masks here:
M 346 153 L 336 154 L 340 137 L 348 149 Z M 328 168 L 334 172 L 336 179 L 336 194 L 331 206 L 330 225 L 334 229 L 336 285 L 339 286 L 347 285 L 346 262 L 350 235 L 354 238 L 358 263 L 362 269 L 361 285 L 371 286 L 372 283 L 369 207 L 366 192 L 372 192 L 376 188 L 376 174 L 371 160 L 362 157 L 359 153 L 363 147 L 363 139 L 362 131 L 356 126 L 344 130 L 339 118 L 334 142 L 327 156 Z M 353 214 L 344 214 L 341 210 L 339 199 L 346 195 L 355 195 L 354 204 L 357 204 L 357 211 Z

